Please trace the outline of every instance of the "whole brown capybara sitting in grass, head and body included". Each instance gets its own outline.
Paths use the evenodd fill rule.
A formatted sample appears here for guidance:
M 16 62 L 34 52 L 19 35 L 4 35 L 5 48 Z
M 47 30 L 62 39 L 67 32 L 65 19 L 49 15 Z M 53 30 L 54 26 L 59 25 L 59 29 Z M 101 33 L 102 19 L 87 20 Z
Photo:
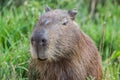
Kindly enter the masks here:
M 102 80 L 100 54 L 75 23 L 76 11 L 47 11 L 31 36 L 29 80 Z

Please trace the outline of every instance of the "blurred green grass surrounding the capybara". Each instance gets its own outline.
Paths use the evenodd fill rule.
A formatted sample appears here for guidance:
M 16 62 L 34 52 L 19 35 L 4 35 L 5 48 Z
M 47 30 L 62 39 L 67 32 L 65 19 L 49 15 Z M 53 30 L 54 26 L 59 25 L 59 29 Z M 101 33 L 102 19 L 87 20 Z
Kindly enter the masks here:
M 0 80 L 28 80 L 30 35 L 46 5 L 78 10 L 76 22 L 102 56 L 103 80 L 120 80 L 120 0 L 0 0 Z

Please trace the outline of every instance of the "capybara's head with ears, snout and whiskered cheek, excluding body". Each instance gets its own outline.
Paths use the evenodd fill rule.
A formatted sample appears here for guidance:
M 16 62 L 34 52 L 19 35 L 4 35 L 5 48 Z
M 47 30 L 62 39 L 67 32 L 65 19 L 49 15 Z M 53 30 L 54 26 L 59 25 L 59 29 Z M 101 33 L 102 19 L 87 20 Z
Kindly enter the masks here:
M 79 27 L 75 23 L 77 11 L 52 10 L 40 16 L 31 35 L 32 58 L 53 61 L 72 58 L 79 41 Z

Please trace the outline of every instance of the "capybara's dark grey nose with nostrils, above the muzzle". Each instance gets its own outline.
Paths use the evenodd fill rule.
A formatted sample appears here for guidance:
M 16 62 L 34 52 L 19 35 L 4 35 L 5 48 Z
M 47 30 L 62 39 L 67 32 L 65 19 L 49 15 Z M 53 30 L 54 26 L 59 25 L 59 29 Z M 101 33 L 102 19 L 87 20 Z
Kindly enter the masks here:
M 41 46 L 46 46 L 47 45 L 47 38 L 43 33 L 35 33 L 31 37 L 31 43 L 36 44 L 36 45 L 41 45 Z

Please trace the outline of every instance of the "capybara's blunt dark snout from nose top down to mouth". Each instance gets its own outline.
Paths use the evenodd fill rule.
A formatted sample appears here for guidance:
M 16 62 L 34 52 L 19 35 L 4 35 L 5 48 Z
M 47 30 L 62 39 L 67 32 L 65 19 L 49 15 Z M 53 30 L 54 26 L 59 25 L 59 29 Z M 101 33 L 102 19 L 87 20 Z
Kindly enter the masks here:
M 46 49 L 48 40 L 44 33 L 35 32 L 31 37 L 31 49 L 32 54 L 36 55 L 36 58 L 40 61 L 47 59 Z

